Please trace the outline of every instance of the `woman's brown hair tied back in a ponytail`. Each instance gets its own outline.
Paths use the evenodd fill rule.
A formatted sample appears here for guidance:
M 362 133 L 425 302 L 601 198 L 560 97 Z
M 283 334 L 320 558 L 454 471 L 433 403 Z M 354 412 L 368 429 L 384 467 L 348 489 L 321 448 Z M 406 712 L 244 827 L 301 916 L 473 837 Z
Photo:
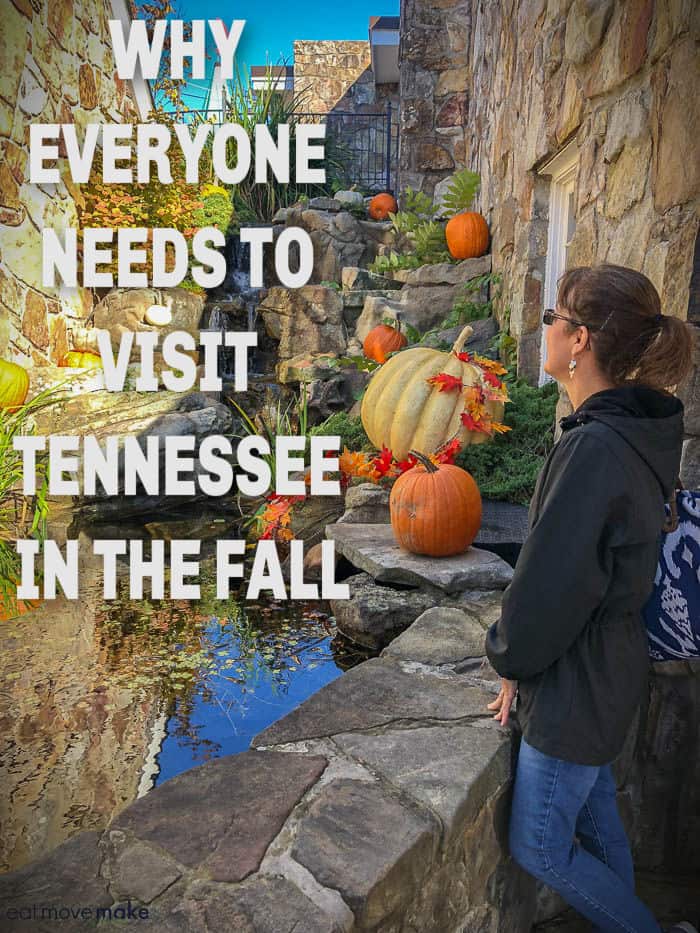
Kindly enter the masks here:
M 690 326 L 661 316 L 659 293 L 641 272 L 608 263 L 568 269 L 559 279 L 557 304 L 591 326 L 596 362 L 614 385 L 667 390 L 690 372 Z

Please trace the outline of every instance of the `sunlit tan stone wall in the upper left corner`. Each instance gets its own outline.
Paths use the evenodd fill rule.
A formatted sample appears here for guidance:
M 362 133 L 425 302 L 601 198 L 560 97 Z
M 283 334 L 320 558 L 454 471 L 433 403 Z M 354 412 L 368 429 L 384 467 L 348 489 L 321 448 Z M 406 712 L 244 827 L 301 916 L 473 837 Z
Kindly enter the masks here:
M 76 191 L 30 185 L 30 123 L 121 122 L 136 117 L 115 73 L 109 0 L 7 0 L 0 30 L 0 353 L 25 366 L 58 362 L 71 319 L 92 308 L 87 289 L 41 284 L 41 230 L 78 224 Z M 62 163 L 59 163 L 62 167 Z

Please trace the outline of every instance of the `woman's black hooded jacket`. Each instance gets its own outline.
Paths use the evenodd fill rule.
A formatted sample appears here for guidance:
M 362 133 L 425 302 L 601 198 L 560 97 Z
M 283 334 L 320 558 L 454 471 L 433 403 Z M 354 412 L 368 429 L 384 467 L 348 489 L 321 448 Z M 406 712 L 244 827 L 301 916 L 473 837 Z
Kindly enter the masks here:
M 647 688 L 640 610 L 678 477 L 683 405 L 645 386 L 606 389 L 560 424 L 486 653 L 518 681 L 530 745 L 602 765 L 620 753 Z

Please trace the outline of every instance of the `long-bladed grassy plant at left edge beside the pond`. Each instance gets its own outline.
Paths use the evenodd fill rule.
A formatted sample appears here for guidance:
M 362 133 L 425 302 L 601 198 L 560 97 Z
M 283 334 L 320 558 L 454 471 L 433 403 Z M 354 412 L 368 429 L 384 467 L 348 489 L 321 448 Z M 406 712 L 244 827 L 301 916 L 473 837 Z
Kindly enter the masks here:
M 12 611 L 16 603 L 17 582 L 21 560 L 14 547 L 20 538 L 46 537 L 48 516 L 48 455 L 39 452 L 36 458 L 36 493 L 25 496 L 23 456 L 15 450 L 13 441 L 20 435 L 36 433 L 34 416 L 44 408 L 65 399 L 61 386 L 39 392 L 15 411 L 0 409 L 0 608 Z

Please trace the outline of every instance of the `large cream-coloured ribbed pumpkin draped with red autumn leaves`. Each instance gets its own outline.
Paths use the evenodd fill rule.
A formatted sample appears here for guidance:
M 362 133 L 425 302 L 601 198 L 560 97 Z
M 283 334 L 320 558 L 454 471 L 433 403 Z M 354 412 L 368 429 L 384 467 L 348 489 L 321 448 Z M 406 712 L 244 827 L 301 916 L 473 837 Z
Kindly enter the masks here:
M 463 424 L 462 392 L 441 392 L 428 381 L 438 373 L 447 373 L 466 387 L 479 385 L 480 368 L 456 355 L 472 332 L 467 324 L 447 353 L 432 347 L 407 347 L 372 373 L 362 396 L 360 417 L 377 450 L 388 447 L 398 460 L 403 460 L 411 449 L 435 453 L 453 437 L 463 447 L 489 439 Z M 487 401 L 485 408 L 494 421 L 503 420 L 503 402 Z

